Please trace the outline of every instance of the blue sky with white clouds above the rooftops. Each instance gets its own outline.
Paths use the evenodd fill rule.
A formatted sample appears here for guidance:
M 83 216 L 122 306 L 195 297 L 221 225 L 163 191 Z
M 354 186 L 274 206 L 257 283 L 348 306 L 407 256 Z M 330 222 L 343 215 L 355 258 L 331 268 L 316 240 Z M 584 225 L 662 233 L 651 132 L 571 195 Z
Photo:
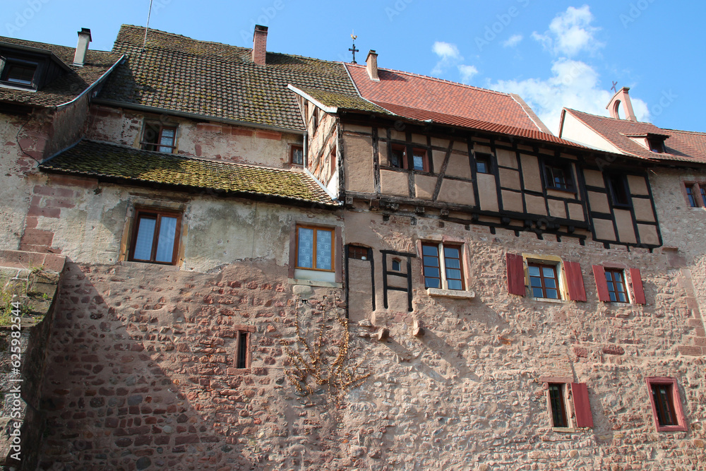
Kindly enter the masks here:
M 109 50 L 122 23 L 145 25 L 149 0 L 4 0 L 0 35 Z M 154 0 L 150 27 L 268 50 L 364 62 L 519 93 L 556 132 L 562 106 L 606 114 L 612 81 L 630 87 L 638 119 L 706 131 L 705 2 L 664 0 Z

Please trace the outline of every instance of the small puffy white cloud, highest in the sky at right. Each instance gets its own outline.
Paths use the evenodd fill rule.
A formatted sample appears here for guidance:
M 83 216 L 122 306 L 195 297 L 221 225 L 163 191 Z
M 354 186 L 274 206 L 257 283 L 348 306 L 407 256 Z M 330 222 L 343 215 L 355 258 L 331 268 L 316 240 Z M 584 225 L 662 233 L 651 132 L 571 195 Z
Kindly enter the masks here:
M 595 52 L 605 44 L 594 37 L 600 28 L 591 25 L 593 19 L 588 5 L 570 6 L 551 20 L 549 30 L 543 34 L 533 32 L 532 39 L 557 55 L 573 57 L 582 51 Z

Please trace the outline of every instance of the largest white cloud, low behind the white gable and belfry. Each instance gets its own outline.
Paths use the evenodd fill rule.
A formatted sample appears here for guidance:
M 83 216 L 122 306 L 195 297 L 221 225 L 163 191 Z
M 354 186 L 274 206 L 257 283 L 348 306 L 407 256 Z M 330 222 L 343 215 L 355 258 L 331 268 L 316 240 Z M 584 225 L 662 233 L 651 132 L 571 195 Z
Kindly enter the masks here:
M 563 58 L 552 63 L 551 72 L 546 80 L 498 81 L 490 88 L 520 95 L 554 134 L 558 133 L 562 107 L 608 116 L 606 105 L 613 94 L 599 88 L 599 74 L 592 66 Z M 647 121 L 647 104 L 639 98 L 631 97 L 630 101 L 638 120 Z

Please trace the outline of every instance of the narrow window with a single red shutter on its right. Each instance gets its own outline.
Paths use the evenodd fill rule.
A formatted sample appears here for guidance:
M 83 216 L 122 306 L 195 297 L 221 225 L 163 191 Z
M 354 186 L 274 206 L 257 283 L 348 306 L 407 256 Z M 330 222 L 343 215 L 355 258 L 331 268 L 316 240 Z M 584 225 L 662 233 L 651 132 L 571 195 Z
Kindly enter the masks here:
M 553 429 L 592 428 L 593 416 L 585 383 L 573 383 L 571 378 L 540 378 L 546 389 L 546 404 Z

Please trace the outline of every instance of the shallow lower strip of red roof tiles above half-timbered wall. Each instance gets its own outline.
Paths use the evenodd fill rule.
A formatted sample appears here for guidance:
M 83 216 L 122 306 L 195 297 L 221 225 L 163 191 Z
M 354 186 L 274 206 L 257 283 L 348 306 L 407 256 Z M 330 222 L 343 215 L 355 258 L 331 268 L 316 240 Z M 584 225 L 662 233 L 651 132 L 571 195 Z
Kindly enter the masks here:
M 481 131 L 508 134 L 510 136 L 534 139 L 536 141 L 545 141 L 586 149 L 582 145 L 571 141 L 566 141 L 565 139 L 560 139 L 554 136 L 553 134 L 543 133 L 542 131 L 538 131 L 537 129 L 516 128 L 514 126 L 507 126 L 505 124 L 496 124 L 488 121 L 480 121 L 479 119 L 469 119 L 465 117 L 453 116 L 450 114 L 426 111 L 424 109 L 394 105 L 393 103 L 373 103 L 387 109 L 389 112 L 397 114 L 397 116 L 405 117 L 407 119 L 414 119 L 417 121 L 429 121 L 431 119 L 431 121 L 435 123 L 450 124 L 451 126 L 460 126 L 463 128 L 480 129 Z

